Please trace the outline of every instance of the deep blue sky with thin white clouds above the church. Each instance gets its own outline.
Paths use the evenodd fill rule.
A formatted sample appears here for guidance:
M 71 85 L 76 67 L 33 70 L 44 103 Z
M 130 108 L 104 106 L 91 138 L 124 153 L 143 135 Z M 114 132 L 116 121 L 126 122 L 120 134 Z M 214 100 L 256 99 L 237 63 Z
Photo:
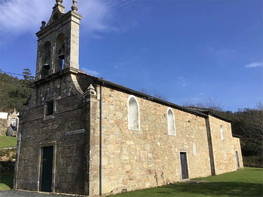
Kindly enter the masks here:
M 36 69 L 53 1 L 0 1 L 3 71 Z M 63 1 L 69 11 L 72 1 Z M 225 110 L 262 101 L 262 1 L 81 1 L 79 65 L 170 102 L 216 98 Z

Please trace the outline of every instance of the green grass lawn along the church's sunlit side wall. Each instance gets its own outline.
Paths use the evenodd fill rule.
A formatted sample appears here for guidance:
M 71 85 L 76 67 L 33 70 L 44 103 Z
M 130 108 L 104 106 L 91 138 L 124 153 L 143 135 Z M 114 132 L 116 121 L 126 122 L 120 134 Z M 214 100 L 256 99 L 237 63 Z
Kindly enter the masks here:
M 198 178 L 202 183 L 177 182 L 135 190 L 117 196 L 263 196 L 262 168 L 247 168 L 217 176 Z

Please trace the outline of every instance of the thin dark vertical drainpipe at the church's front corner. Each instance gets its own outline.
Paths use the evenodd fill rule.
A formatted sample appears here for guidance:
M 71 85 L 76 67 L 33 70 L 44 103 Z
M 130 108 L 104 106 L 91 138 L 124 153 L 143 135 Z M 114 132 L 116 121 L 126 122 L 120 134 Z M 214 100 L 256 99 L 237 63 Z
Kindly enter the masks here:
M 102 82 L 102 85 L 104 82 Z M 99 99 L 99 195 L 102 195 L 102 85 L 100 85 Z

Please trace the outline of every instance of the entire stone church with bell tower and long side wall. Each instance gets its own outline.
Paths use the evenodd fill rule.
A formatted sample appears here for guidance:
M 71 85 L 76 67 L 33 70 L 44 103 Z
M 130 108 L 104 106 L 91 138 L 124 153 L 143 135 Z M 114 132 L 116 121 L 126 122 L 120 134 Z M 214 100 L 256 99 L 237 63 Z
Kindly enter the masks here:
M 14 189 L 108 195 L 243 167 L 231 120 L 79 70 L 77 0 L 56 0 L 19 115 Z

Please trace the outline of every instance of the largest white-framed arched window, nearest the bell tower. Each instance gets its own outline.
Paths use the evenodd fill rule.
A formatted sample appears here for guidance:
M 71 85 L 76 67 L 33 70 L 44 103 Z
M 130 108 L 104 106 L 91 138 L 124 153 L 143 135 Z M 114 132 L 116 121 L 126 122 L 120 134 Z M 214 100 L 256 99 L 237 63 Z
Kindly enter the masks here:
M 137 99 L 130 95 L 128 105 L 128 129 L 140 131 L 140 108 Z

